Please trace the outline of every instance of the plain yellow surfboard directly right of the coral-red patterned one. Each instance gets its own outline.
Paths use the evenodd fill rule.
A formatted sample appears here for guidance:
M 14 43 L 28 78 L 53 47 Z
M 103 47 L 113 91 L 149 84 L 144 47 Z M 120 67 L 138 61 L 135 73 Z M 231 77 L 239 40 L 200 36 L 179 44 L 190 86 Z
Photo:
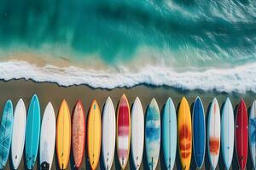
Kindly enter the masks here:
M 92 101 L 87 124 L 87 146 L 91 169 L 96 169 L 99 163 L 102 141 L 102 117 L 96 100 Z

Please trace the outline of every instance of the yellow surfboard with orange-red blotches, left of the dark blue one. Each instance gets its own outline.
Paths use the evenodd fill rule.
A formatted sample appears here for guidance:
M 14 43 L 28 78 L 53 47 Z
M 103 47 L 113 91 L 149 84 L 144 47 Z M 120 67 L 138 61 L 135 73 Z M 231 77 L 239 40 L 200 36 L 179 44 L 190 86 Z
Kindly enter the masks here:
M 177 116 L 179 157 L 183 170 L 189 170 L 192 155 L 192 127 L 189 103 L 185 97 L 180 102 Z

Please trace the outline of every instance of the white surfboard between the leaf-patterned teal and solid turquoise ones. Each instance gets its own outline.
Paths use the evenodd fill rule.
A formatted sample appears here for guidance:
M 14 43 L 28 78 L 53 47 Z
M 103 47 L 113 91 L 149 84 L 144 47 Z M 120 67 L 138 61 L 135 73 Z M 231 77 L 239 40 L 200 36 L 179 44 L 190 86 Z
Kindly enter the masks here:
M 20 165 L 23 155 L 26 133 L 26 108 L 22 99 L 15 107 L 14 127 L 11 144 L 11 157 L 14 169 Z

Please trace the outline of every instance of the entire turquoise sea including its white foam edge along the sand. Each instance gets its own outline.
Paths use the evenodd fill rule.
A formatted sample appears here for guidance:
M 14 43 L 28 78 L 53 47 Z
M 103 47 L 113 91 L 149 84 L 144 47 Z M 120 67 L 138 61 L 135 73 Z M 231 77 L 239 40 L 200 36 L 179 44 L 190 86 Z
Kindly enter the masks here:
M 256 92 L 256 3 L 3 0 L 0 59 L 3 80 Z

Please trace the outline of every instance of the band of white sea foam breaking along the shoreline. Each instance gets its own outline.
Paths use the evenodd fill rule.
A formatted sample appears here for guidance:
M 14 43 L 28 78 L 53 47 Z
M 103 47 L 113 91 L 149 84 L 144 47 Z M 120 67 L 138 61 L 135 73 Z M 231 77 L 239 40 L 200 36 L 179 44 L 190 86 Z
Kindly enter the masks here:
M 131 88 L 138 84 L 171 86 L 182 89 L 217 90 L 220 92 L 256 93 L 256 63 L 227 69 L 175 71 L 172 68 L 145 66 L 137 71 L 127 68 L 85 70 L 74 66 L 39 67 L 25 61 L 0 62 L 0 79 L 32 79 L 35 82 L 56 82 L 61 86 L 86 84 L 92 88 Z

